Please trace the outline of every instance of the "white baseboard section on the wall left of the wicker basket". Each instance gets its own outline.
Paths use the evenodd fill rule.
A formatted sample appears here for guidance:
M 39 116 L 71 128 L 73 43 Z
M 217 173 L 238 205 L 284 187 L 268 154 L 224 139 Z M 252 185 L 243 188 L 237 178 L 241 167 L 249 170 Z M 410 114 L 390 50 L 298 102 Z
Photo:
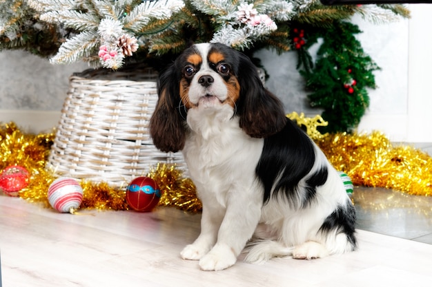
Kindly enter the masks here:
M 13 122 L 22 131 L 39 134 L 57 127 L 60 111 L 33 111 L 0 109 L 0 123 Z

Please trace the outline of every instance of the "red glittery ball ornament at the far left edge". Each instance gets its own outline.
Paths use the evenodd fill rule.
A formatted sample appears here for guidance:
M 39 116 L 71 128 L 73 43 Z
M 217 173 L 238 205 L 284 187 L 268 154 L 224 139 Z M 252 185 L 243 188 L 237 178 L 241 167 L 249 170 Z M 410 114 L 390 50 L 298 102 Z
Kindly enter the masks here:
M 18 196 L 18 191 L 28 186 L 28 178 L 28 171 L 24 167 L 6 167 L 0 176 L 0 189 L 9 196 Z

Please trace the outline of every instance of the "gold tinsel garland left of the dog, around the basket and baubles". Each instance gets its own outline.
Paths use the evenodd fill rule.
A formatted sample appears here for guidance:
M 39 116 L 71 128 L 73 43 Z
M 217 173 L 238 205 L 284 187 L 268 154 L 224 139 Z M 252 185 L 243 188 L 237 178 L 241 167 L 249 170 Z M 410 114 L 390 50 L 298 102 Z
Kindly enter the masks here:
M 0 173 L 11 165 L 25 167 L 30 173 L 28 187 L 19 191 L 19 197 L 29 202 L 41 202 L 49 207 L 48 187 L 55 180 L 55 174 L 46 170 L 46 162 L 55 133 L 24 134 L 14 123 L 0 127 Z M 175 206 L 183 211 L 198 212 L 202 205 L 195 193 L 195 186 L 189 178 L 183 178 L 175 165 L 159 164 L 147 175 L 153 178 L 163 191 L 159 206 Z M 81 180 L 83 201 L 81 209 L 128 210 L 126 188 L 116 189 L 106 182 Z M 128 182 L 125 182 L 126 187 Z M 1 194 L 1 193 L 0 193 Z

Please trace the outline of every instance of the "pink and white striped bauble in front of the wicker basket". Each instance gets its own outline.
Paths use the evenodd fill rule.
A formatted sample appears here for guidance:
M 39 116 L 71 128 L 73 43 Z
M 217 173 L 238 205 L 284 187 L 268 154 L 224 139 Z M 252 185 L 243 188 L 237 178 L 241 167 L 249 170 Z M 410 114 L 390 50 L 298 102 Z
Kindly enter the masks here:
M 83 189 L 74 178 L 57 178 L 48 188 L 48 201 L 61 213 L 74 213 L 83 201 Z

